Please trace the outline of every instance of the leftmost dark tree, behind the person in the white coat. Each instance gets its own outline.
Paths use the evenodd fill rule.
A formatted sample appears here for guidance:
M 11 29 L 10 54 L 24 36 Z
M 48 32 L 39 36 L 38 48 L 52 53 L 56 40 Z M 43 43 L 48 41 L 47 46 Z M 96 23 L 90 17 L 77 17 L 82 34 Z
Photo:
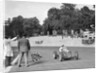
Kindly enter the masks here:
M 5 21 L 5 37 L 14 37 L 16 35 L 20 35 L 20 33 L 23 33 L 23 17 L 13 17 L 12 21 L 10 18 L 8 18 L 7 21 Z

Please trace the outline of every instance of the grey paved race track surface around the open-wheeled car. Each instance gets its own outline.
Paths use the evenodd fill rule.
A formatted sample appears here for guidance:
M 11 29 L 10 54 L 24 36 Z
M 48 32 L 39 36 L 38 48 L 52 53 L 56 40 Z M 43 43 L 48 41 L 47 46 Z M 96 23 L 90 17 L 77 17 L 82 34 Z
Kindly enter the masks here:
M 12 66 L 11 72 L 25 72 L 25 71 L 42 71 L 42 70 L 61 70 L 61 69 L 80 69 L 80 68 L 94 68 L 95 67 L 95 48 L 94 47 L 68 47 L 72 52 L 78 51 L 80 60 L 70 60 L 59 62 L 54 60 L 52 53 L 58 50 L 58 47 L 33 47 L 31 52 L 38 52 L 42 59 L 39 62 L 32 62 L 29 57 L 29 67 Z M 17 50 L 14 48 L 14 54 L 17 55 Z

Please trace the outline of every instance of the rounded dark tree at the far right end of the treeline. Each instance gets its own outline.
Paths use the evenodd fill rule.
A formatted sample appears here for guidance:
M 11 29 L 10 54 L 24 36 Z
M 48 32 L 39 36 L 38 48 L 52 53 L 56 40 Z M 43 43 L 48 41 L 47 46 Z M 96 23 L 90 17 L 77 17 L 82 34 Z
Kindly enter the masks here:
M 80 24 L 81 24 L 81 28 L 83 29 L 90 29 L 90 25 L 92 23 L 95 23 L 95 21 L 93 21 L 93 17 L 94 15 L 94 11 L 90 10 L 88 7 L 84 6 L 81 9 L 81 16 L 80 16 Z

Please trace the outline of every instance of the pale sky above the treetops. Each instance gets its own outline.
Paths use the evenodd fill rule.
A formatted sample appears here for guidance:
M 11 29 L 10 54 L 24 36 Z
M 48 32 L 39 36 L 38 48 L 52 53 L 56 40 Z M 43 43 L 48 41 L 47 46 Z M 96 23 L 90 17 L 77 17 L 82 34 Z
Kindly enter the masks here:
M 5 2 L 5 19 L 22 15 L 25 18 L 37 17 L 40 24 L 47 17 L 50 8 L 60 8 L 61 3 L 43 3 L 43 2 L 26 2 L 26 1 L 6 1 Z M 79 4 L 76 7 L 82 8 L 84 5 Z M 93 9 L 92 5 L 85 5 Z

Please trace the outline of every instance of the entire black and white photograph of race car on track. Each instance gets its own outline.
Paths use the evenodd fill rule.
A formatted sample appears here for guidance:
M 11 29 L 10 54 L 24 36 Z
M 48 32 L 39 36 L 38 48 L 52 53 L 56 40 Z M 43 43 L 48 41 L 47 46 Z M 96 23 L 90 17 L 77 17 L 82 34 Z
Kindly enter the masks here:
M 95 7 L 5 0 L 5 72 L 95 68 Z

